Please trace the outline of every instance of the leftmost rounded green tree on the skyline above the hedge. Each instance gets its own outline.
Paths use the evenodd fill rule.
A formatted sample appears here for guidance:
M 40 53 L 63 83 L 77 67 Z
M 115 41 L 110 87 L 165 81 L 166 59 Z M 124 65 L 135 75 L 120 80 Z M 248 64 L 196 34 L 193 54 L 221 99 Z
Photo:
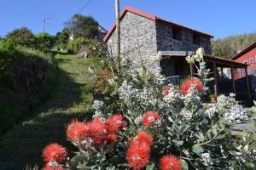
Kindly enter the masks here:
M 11 39 L 15 44 L 31 47 L 35 46 L 35 36 L 32 31 L 26 27 L 15 29 L 6 36 Z

